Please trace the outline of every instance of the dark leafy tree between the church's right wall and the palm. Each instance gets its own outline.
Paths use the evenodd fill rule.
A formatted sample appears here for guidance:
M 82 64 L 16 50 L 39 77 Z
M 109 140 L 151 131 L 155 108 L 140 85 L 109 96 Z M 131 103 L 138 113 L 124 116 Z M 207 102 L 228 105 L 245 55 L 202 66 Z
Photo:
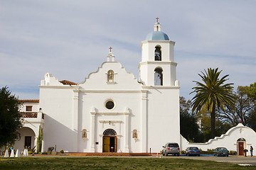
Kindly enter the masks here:
M 200 140 L 197 118 L 189 113 L 191 110 L 191 101 L 186 101 L 184 97 L 180 97 L 180 127 L 181 135 L 188 141 L 198 142 Z

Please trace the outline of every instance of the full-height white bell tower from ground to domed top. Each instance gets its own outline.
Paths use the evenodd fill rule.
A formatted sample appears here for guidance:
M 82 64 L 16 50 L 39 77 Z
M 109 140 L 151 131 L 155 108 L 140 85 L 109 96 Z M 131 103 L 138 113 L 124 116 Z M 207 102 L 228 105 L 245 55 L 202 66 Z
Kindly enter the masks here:
M 158 18 L 156 18 L 158 20 Z M 174 44 L 161 32 L 156 21 L 154 31 L 142 41 L 139 79 L 142 84 L 142 146 L 143 152 L 159 152 L 159 144 L 181 141 L 179 116 L 179 85 L 176 80 Z M 159 135 L 166 134 L 166 135 Z

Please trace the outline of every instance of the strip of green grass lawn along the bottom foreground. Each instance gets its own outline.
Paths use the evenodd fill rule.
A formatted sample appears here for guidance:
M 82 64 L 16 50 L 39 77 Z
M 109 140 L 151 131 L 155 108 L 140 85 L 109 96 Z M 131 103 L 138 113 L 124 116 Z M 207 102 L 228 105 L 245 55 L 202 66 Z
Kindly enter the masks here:
M 0 158 L 0 169 L 255 169 L 223 162 L 135 157 Z

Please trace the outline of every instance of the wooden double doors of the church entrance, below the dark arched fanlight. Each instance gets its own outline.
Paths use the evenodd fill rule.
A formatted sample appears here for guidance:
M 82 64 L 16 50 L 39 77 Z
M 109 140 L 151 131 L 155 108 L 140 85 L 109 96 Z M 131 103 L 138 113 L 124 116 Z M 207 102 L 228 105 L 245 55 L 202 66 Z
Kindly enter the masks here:
M 104 136 L 102 152 L 117 152 L 117 137 Z

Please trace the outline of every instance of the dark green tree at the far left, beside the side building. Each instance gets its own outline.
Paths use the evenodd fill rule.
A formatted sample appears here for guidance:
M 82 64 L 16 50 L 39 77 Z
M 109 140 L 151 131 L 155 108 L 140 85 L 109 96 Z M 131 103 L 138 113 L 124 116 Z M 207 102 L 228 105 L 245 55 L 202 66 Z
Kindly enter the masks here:
M 22 127 L 21 114 L 18 112 L 18 98 L 11 95 L 8 87 L 0 89 L 0 147 L 14 144 Z

